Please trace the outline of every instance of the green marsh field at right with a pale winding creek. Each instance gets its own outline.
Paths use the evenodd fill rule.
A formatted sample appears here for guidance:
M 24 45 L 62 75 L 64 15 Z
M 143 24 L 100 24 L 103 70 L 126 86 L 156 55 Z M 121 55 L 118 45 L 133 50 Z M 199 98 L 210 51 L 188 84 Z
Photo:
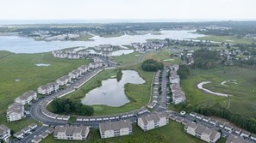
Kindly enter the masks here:
M 212 81 L 203 87 L 214 91 L 228 93 L 230 97 L 229 110 L 242 116 L 256 117 L 256 73 L 255 69 L 240 67 L 218 67 L 215 69 L 192 69 L 192 74 L 187 80 L 181 80 L 189 105 L 214 105 L 220 104 L 228 108 L 228 98 L 218 97 L 197 89 L 197 84 L 201 81 Z M 238 84 L 228 83 L 222 86 L 224 80 L 237 80 Z

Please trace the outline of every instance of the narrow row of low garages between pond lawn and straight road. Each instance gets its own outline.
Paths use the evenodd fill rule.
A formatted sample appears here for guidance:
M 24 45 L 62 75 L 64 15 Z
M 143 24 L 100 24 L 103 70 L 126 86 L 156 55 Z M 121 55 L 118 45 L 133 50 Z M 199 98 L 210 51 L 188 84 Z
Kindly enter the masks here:
M 160 70 L 157 71 L 157 73 L 154 76 L 154 80 L 153 80 L 153 98 L 152 98 L 152 102 L 147 105 L 147 108 L 150 108 L 150 109 L 153 109 L 153 107 L 155 107 L 155 105 L 158 103 L 157 100 L 158 100 L 158 97 L 159 97 L 159 86 L 160 86 L 159 76 L 160 76 Z

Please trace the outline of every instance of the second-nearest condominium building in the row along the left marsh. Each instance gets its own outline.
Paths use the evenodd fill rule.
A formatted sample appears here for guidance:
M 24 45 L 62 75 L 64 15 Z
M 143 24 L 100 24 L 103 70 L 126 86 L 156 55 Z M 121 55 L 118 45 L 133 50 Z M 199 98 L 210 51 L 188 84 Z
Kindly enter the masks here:
M 21 96 L 15 98 L 14 102 L 25 105 L 29 104 L 33 99 L 36 99 L 37 93 L 34 91 L 29 91 L 23 93 Z

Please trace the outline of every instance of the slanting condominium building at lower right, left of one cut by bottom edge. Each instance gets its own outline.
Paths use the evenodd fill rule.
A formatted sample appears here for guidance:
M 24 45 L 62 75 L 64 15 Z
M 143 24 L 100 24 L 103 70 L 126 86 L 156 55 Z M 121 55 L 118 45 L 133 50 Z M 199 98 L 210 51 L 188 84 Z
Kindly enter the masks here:
M 209 143 L 215 143 L 221 138 L 220 132 L 196 122 L 187 122 L 184 126 L 184 132 Z

